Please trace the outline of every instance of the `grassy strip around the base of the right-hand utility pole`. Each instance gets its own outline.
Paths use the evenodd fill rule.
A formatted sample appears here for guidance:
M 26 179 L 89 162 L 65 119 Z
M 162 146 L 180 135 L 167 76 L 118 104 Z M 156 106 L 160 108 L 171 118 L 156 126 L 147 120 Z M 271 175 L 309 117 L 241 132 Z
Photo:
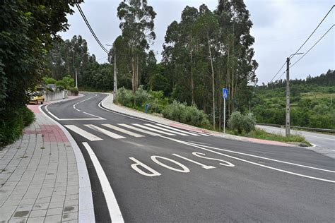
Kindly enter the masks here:
M 227 130 L 226 131 L 229 134 L 237 135 L 235 131 Z M 277 141 L 277 142 L 283 142 L 283 143 L 305 143 L 309 146 L 311 144 L 302 136 L 302 135 L 290 135 L 290 137 L 286 137 L 281 134 L 274 134 L 274 133 L 267 133 L 266 131 L 255 128 L 255 130 L 249 132 L 248 134 L 242 133 L 241 136 L 249 137 L 249 138 L 259 138 L 263 140 L 271 140 L 271 141 Z

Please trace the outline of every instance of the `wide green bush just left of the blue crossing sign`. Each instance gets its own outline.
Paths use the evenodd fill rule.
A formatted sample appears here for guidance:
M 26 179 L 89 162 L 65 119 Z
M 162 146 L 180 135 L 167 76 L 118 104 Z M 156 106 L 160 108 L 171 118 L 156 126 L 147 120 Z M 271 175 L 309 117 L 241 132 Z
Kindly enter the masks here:
M 204 111 L 195 106 L 187 106 L 186 103 L 173 101 L 163 109 L 162 114 L 165 118 L 192 126 L 209 126 L 208 117 Z

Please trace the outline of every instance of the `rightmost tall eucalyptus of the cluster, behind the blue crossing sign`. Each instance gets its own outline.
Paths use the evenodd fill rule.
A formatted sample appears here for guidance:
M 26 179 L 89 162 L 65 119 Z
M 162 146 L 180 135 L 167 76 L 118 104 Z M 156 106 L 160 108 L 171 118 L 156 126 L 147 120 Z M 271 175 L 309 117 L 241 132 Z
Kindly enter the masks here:
M 234 108 L 237 90 L 249 90 L 248 83 L 257 82 L 255 70 L 258 66 L 253 59 L 254 37 L 250 35 L 252 21 L 243 0 L 219 0 L 214 11 L 222 30 L 220 40 L 226 57 L 226 86 L 230 91 L 228 111 Z

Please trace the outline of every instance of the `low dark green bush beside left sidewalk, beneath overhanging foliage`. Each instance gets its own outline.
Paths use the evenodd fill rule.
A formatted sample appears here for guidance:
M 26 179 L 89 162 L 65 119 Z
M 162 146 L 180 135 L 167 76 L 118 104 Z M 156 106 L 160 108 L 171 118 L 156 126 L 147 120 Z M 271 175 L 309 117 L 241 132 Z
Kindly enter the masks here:
M 0 121 L 0 146 L 13 143 L 22 134 L 25 126 L 33 123 L 35 119 L 33 111 L 27 107 L 22 107 L 17 111 L 13 111 L 11 119 L 4 119 Z

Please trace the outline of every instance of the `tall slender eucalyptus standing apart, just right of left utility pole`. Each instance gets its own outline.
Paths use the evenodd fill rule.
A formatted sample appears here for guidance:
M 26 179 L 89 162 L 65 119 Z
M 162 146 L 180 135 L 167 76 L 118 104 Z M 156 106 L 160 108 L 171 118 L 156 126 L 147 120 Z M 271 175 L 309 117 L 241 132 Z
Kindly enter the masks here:
M 119 28 L 128 44 L 131 56 L 131 85 L 133 92 L 139 86 L 139 62 L 141 53 L 149 49 L 149 43 L 155 40 L 155 11 L 146 0 L 124 0 L 117 7 L 117 16 L 121 20 Z

